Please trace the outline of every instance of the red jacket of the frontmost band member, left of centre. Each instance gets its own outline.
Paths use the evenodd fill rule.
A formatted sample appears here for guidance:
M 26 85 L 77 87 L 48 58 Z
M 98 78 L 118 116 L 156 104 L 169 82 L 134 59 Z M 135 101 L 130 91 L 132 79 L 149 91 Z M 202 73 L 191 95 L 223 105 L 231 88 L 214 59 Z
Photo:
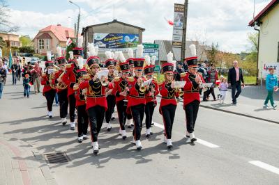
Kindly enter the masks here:
M 86 88 L 86 110 L 93 106 L 103 106 L 107 111 L 107 99 L 105 98 L 105 86 L 102 86 L 100 79 L 83 81 L 80 89 Z

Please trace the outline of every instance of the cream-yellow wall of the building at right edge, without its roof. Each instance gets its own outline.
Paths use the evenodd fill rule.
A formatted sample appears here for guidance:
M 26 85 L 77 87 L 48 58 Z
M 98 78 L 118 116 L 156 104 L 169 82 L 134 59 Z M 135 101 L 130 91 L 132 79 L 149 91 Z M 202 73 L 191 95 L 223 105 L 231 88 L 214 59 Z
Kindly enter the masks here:
M 264 63 L 277 63 L 279 42 L 279 4 L 263 19 L 259 33 L 259 78 Z

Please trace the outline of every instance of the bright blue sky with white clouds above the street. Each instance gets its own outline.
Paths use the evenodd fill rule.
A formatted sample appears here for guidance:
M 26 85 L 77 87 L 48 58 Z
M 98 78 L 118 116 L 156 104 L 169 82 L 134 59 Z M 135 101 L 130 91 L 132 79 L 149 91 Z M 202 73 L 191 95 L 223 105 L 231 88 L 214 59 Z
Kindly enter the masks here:
M 255 14 L 271 0 L 256 0 Z M 82 27 L 111 22 L 140 26 L 146 31 L 144 42 L 172 40 L 172 26 L 165 18 L 173 20 L 174 3 L 183 0 L 73 0 L 80 6 Z M 7 0 L 10 22 L 20 26 L 20 35 L 33 38 L 40 29 L 50 24 L 74 28 L 78 8 L 66 0 Z M 250 48 L 248 26 L 253 17 L 254 0 L 189 0 L 187 40 L 202 44 L 217 44 L 222 51 L 239 53 Z M 165 17 L 165 18 L 164 18 Z

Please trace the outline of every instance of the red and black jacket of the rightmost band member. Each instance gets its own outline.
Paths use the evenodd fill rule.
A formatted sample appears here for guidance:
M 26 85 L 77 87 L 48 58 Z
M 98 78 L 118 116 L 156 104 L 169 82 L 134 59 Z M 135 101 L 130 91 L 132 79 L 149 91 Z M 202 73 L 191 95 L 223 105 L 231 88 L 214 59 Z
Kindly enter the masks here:
M 193 102 L 195 100 L 200 102 L 199 97 L 199 84 L 196 83 L 195 77 L 196 75 L 199 75 L 199 77 L 202 80 L 202 83 L 204 83 L 204 79 L 202 78 L 202 75 L 197 74 L 191 74 L 190 72 L 181 73 L 181 81 L 186 81 L 186 84 L 183 88 L 184 95 L 183 95 L 183 107 L 185 107 L 187 104 L 190 104 L 190 102 Z

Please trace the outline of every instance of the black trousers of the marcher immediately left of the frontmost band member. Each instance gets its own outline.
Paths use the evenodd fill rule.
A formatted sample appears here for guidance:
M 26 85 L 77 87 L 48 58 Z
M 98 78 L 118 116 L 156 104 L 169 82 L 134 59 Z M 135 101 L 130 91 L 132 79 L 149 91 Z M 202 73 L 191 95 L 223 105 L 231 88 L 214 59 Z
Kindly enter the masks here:
M 87 134 L 88 122 L 86 104 L 77 106 L 77 134 L 79 137 Z

